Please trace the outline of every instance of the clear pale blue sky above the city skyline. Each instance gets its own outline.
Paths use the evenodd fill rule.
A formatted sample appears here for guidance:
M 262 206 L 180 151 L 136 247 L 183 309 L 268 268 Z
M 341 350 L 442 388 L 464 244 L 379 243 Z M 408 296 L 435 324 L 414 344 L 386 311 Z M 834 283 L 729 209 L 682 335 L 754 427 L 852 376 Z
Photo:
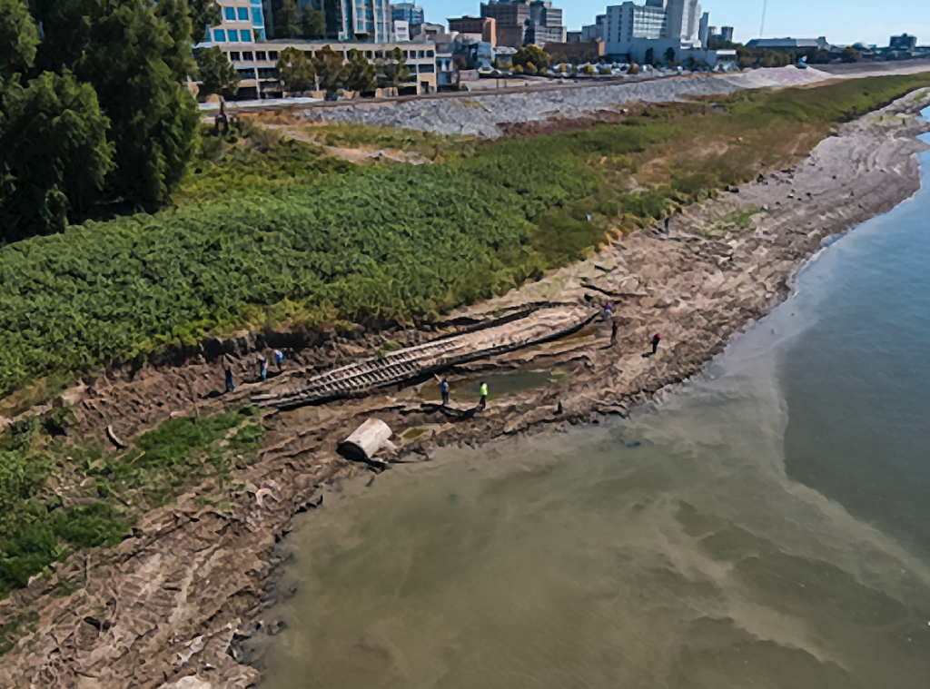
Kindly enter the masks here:
M 634 1 L 642 5 L 645 0 Z M 419 0 L 418 4 L 425 10 L 426 20 L 437 24 L 445 24 L 449 17 L 481 14 L 480 0 Z M 553 5 L 564 10 L 568 30 L 577 31 L 582 24 L 594 23 L 596 15 L 604 14 L 608 3 L 554 0 Z M 759 37 L 763 0 L 703 0 L 701 6 L 711 13 L 711 26 L 732 26 L 740 43 Z M 830 43 L 840 45 L 861 41 L 887 46 L 889 37 L 899 33 L 911 33 L 920 45 L 930 45 L 930 1 L 768 0 L 765 12 L 766 38 L 826 36 Z

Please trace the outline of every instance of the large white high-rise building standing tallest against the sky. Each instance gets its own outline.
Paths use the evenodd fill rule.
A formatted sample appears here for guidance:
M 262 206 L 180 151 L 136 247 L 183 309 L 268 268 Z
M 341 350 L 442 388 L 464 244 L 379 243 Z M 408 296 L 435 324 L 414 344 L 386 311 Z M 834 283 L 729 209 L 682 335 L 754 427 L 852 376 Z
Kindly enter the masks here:
M 651 49 L 659 60 L 669 48 L 675 53 L 698 49 L 700 23 L 697 0 L 646 0 L 645 5 L 625 2 L 607 7 L 606 51 L 642 60 Z

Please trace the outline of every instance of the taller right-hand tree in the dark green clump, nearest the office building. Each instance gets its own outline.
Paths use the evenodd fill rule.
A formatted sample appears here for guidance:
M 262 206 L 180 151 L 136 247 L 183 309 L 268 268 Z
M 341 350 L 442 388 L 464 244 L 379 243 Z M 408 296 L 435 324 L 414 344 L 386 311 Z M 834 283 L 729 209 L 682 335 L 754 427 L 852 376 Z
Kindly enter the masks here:
M 189 69 L 184 3 L 162 1 L 167 9 L 156 11 L 153 0 L 33 0 L 45 33 L 40 60 L 97 91 L 115 145 L 107 186 L 141 205 L 166 202 L 177 186 L 199 119 L 180 81 Z

